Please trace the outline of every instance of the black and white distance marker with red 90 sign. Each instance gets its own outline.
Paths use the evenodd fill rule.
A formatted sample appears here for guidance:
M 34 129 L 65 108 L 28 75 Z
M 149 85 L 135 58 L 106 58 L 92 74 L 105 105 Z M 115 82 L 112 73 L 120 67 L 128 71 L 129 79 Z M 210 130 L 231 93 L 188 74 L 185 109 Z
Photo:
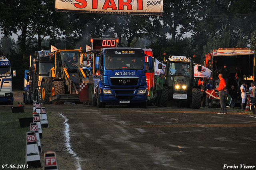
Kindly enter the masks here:
M 27 132 L 26 139 L 26 164 L 28 168 L 31 168 L 31 166 L 41 168 L 42 164 L 35 132 Z

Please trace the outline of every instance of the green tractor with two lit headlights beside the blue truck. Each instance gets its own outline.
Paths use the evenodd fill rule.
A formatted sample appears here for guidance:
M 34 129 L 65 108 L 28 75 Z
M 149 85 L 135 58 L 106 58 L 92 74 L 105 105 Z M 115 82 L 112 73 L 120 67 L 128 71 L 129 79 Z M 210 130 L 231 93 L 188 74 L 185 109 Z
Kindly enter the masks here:
M 158 65 L 162 68 L 162 64 Z M 200 71 L 201 67 L 198 67 Z M 194 62 L 184 56 L 171 56 L 166 60 L 164 71 L 164 90 L 161 104 L 167 106 L 168 98 L 177 100 L 178 107 L 186 101 L 187 108 L 199 109 L 201 106 L 201 88 L 194 78 Z

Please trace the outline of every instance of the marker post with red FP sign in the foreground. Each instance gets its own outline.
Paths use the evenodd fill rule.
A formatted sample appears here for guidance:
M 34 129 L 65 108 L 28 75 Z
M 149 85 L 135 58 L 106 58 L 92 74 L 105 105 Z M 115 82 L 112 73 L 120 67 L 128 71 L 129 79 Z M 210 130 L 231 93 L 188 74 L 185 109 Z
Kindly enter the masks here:
M 57 157 L 55 152 L 44 153 L 44 170 L 58 170 Z

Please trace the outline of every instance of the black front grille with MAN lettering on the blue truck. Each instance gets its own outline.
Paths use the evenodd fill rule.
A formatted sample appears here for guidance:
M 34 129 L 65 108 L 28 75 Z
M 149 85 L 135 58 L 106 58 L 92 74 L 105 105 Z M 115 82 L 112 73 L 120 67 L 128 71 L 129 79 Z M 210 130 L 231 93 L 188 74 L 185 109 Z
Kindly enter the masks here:
M 113 86 L 136 86 L 138 84 L 138 77 L 110 77 Z

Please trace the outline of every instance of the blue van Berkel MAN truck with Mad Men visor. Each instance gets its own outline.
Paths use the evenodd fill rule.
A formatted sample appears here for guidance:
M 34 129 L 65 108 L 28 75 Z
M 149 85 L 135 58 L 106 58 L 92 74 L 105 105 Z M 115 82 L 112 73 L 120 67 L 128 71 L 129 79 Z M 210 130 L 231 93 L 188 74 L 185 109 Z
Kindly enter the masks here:
M 94 103 L 98 108 L 107 103 L 137 103 L 146 108 L 146 70 L 152 68 L 152 57 L 141 48 L 103 48 L 95 58 L 99 76 L 94 79 Z

